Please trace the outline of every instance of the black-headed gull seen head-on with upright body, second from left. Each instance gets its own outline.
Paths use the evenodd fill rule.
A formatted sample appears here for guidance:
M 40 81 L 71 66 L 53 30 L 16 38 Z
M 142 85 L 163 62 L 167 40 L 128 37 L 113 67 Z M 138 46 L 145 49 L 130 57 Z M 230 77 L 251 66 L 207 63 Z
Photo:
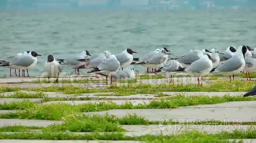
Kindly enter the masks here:
M 57 75 L 56 82 L 58 81 L 62 69 L 60 63 L 57 62 L 51 54 L 48 55 L 47 61 L 45 62 L 45 71 L 48 72 L 48 80 L 50 80 L 50 76 Z

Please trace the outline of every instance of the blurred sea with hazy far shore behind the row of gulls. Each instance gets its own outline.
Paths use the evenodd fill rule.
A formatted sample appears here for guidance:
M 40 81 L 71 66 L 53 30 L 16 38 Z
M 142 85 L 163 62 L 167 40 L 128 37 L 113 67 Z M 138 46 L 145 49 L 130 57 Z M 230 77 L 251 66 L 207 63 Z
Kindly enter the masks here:
M 43 56 L 30 75 L 40 75 L 48 54 L 254 47 L 255 15 L 256 0 L 0 0 L 0 60 L 34 50 Z

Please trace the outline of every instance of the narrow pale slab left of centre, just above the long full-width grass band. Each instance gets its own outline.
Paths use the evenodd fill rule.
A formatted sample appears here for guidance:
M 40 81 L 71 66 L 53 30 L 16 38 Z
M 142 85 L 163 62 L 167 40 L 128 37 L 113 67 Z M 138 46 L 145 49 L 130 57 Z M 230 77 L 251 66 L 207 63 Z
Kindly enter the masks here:
M 86 100 L 86 101 L 50 101 L 46 102 L 44 104 L 56 104 L 56 103 L 65 103 L 65 104 L 72 104 L 72 105 L 79 105 L 79 104 L 88 104 L 88 103 L 108 103 L 108 102 L 113 102 L 116 103 L 117 105 L 122 105 L 125 104 L 126 102 L 130 101 L 134 106 L 138 104 L 149 104 L 150 100 Z

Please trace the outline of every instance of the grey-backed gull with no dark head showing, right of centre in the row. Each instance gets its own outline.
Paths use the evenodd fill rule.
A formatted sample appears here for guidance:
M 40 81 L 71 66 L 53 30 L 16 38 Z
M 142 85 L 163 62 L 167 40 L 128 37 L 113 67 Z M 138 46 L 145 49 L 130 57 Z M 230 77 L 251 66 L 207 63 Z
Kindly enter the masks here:
M 190 50 L 187 54 L 181 57 L 176 57 L 174 60 L 177 60 L 178 62 L 190 65 L 194 61 L 199 60 L 201 57 L 203 57 L 203 52 L 200 50 Z

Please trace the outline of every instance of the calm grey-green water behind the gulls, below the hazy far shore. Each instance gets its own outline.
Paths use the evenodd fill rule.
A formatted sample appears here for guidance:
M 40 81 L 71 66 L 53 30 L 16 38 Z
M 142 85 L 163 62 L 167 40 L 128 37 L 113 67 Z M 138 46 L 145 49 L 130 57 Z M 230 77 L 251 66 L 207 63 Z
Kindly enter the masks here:
M 254 47 L 255 14 L 242 10 L 0 11 L 0 60 L 37 51 L 43 56 L 30 75 L 40 75 L 48 54 L 67 58 L 83 50 L 97 55 L 131 48 L 139 57 L 162 46 L 174 55 L 190 49 Z M 73 72 L 68 67 L 64 71 Z M 0 67 L 0 77 L 8 75 L 8 68 Z

